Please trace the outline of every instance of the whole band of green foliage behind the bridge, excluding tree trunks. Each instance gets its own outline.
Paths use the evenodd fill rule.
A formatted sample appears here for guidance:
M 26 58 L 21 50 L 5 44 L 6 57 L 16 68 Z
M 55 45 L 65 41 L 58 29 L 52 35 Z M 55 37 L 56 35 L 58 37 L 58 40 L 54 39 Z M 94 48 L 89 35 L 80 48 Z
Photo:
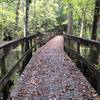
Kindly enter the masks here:
M 25 1 L 22 1 L 24 6 L 22 7 L 22 3 L 20 3 L 18 29 L 15 31 L 16 1 L 0 0 L 0 35 L 8 32 L 14 37 L 23 36 Z M 30 0 L 29 32 L 31 34 L 38 31 L 46 32 L 57 26 L 61 28 L 63 25 L 66 25 L 67 28 L 68 4 L 71 4 L 73 32 L 77 36 L 80 35 L 83 21 L 83 37 L 90 37 L 94 2 L 95 0 Z

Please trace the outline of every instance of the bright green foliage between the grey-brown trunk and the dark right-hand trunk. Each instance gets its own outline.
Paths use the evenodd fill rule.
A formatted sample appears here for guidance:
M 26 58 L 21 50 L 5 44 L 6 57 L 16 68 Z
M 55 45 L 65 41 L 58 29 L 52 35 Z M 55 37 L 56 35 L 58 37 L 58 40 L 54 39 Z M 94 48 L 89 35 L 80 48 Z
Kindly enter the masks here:
M 81 23 L 83 21 L 83 37 L 90 37 L 95 0 L 63 0 L 63 2 L 66 5 L 70 3 L 73 7 L 73 31 L 75 35 L 80 35 Z

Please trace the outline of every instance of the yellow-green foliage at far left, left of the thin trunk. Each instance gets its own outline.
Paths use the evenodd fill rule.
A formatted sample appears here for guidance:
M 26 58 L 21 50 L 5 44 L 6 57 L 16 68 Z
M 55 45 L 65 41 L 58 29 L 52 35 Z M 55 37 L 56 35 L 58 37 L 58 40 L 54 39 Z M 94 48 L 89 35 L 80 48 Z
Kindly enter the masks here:
M 7 1 L 6 1 L 7 2 Z M 15 13 L 14 5 L 9 6 L 8 3 L 3 2 L 0 4 L 0 39 L 4 38 L 4 34 L 14 33 L 14 24 L 15 24 Z M 11 1 L 9 1 L 11 2 Z

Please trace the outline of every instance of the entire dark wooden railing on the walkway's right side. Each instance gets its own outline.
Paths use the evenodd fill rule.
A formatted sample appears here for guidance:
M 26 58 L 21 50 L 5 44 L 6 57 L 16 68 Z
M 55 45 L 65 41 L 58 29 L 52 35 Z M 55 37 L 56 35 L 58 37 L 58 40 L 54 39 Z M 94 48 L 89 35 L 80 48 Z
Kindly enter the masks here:
M 65 51 L 100 94 L 100 42 L 64 35 Z

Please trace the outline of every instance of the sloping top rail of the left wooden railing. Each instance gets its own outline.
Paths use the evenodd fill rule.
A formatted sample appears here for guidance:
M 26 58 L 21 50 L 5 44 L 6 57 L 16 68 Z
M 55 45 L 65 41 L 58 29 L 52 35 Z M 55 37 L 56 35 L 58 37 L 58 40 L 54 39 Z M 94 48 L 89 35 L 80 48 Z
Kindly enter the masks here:
M 36 36 L 38 36 L 38 34 L 37 35 L 29 35 L 29 36 L 26 36 L 26 37 L 23 37 L 23 38 L 20 38 L 20 39 L 14 39 L 14 40 L 8 41 L 6 43 L 1 44 L 0 49 L 8 47 L 8 46 L 13 45 L 13 44 L 18 43 L 18 42 L 27 40 L 27 39 L 35 38 Z

